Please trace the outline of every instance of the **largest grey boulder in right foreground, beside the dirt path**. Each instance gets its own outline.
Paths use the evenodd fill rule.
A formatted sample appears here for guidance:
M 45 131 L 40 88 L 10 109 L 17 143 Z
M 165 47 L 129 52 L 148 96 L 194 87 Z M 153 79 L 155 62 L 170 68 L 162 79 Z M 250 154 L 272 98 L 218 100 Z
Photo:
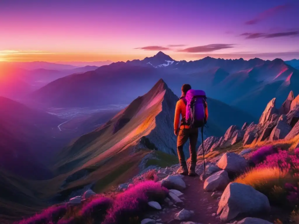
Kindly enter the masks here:
M 240 214 L 267 213 L 270 209 L 266 195 L 249 185 L 229 183 L 219 201 L 217 214 L 221 221 L 229 221 Z

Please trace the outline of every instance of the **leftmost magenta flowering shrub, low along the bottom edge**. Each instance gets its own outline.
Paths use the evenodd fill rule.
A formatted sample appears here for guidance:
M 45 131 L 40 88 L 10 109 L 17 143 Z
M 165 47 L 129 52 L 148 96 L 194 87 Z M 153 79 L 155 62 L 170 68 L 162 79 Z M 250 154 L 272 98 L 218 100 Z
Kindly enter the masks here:
M 36 214 L 33 217 L 17 222 L 16 224 L 44 224 L 44 223 L 57 223 L 57 221 L 65 215 L 67 205 L 52 206 Z

